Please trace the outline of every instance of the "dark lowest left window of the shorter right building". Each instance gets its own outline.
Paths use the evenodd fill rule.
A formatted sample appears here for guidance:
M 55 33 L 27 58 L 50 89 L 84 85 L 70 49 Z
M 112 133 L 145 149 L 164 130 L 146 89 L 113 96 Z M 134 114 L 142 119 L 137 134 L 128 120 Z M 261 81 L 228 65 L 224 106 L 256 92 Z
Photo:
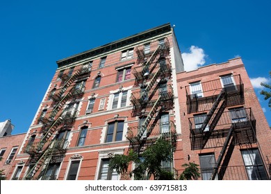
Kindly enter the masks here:
M 213 168 L 215 167 L 215 155 L 208 154 L 208 155 L 199 155 L 199 164 L 201 177 L 203 180 L 209 180 L 213 173 Z

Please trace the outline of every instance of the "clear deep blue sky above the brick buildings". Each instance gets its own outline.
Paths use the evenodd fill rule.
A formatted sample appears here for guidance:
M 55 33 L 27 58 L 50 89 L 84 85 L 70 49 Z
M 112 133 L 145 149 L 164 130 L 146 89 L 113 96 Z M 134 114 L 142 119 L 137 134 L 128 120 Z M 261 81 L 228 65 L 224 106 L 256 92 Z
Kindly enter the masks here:
M 57 60 L 170 22 L 196 65 L 242 57 L 271 125 L 257 87 L 270 83 L 270 10 L 267 0 L 2 1 L 0 122 L 10 118 L 13 134 L 27 132 Z

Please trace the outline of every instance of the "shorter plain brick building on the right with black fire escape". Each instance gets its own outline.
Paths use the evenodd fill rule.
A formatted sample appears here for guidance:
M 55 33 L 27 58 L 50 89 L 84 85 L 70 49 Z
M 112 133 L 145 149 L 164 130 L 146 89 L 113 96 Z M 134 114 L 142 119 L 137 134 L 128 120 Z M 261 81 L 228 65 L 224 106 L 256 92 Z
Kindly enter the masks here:
M 240 58 L 177 73 L 184 161 L 202 179 L 270 179 L 271 130 Z

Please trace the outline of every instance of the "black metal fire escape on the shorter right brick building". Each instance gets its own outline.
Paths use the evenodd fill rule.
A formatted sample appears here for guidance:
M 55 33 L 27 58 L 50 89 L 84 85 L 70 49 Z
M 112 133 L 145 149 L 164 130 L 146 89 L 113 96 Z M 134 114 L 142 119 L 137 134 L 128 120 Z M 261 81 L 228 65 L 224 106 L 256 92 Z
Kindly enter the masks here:
M 223 179 L 224 169 L 234 145 L 256 143 L 256 120 L 252 109 L 229 107 L 244 104 L 244 87 L 240 75 L 231 76 L 232 84 L 221 87 L 221 80 L 202 82 L 204 91 L 192 94 L 186 87 L 191 150 L 222 147 L 210 179 Z M 233 84 L 234 83 L 234 84 Z M 228 107 L 229 111 L 225 111 Z M 203 114 L 204 113 L 204 114 Z M 223 168 L 223 169 L 222 169 Z

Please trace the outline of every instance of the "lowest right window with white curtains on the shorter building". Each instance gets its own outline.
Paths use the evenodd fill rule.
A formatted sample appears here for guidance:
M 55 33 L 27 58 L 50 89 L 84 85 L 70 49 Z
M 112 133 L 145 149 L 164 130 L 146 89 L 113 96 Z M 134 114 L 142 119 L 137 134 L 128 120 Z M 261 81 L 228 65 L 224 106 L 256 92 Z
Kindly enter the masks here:
M 242 150 L 242 156 L 249 180 L 267 180 L 263 161 L 258 149 Z

